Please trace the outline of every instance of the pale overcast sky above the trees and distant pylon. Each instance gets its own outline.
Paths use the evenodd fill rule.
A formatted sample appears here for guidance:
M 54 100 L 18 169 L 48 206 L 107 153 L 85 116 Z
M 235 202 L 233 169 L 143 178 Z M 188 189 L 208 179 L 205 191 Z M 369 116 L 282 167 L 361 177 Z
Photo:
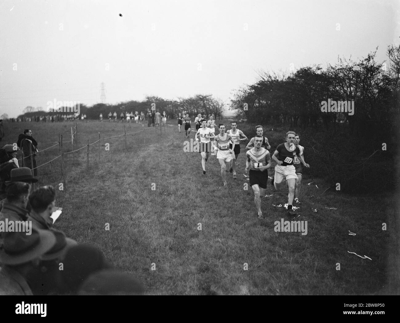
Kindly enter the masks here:
M 122 14 L 122 16 L 120 16 Z M 289 72 L 399 45 L 398 1 L 4 1 L 0 115 L 54 99 L 177 99 L 232 91 L 258 70 Z

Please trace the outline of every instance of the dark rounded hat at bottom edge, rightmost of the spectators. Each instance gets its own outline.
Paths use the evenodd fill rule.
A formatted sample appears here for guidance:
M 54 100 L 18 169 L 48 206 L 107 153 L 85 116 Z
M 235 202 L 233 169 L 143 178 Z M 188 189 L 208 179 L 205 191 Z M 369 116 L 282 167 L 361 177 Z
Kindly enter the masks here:
M 113 269 L 93 273 L 82 283 L 78 295 L 142 295 L 143 285 L 132 274 Z

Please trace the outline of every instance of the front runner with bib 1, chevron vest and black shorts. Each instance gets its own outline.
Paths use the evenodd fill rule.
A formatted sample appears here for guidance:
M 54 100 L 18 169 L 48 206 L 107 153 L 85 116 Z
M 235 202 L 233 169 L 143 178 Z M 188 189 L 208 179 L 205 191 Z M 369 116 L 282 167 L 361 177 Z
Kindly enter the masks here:
M 250 185 L 254 192 L 254 203 L 256 203 L 259 219 L 264 219 L 261 211 L 261 197 L 265 195 L 268 179 L 267 169 L 271 167 L 270 153 L 261 147 L 263 141 L 263 136 L 254 137 L 255 147 L 246 152 L 247 160 L 244 170 L 250 176 Z

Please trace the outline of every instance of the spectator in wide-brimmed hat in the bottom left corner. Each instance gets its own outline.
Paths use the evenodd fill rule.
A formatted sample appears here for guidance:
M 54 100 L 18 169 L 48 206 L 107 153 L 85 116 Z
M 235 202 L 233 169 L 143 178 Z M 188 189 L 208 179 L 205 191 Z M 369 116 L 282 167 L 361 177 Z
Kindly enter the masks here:
M 37 272 L 40 257 L 55 243 L 56 236 L 50 230 L 7 235 L 0 247 L 0 295 L 34 295 L 28 277 L 34 276 L 32 271 Z

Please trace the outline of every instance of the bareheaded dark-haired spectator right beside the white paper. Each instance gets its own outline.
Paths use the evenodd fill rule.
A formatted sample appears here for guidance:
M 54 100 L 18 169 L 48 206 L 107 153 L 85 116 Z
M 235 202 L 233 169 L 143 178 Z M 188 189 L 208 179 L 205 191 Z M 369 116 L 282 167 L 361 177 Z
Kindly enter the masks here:
M 32 227 L 37 229 L 50 229 L 53 227 L 53 213 L 56 191 L 52 186 L 42 186 L 35 189 L 29 195 L 31 211 L 28 221 L 32 221 Z

